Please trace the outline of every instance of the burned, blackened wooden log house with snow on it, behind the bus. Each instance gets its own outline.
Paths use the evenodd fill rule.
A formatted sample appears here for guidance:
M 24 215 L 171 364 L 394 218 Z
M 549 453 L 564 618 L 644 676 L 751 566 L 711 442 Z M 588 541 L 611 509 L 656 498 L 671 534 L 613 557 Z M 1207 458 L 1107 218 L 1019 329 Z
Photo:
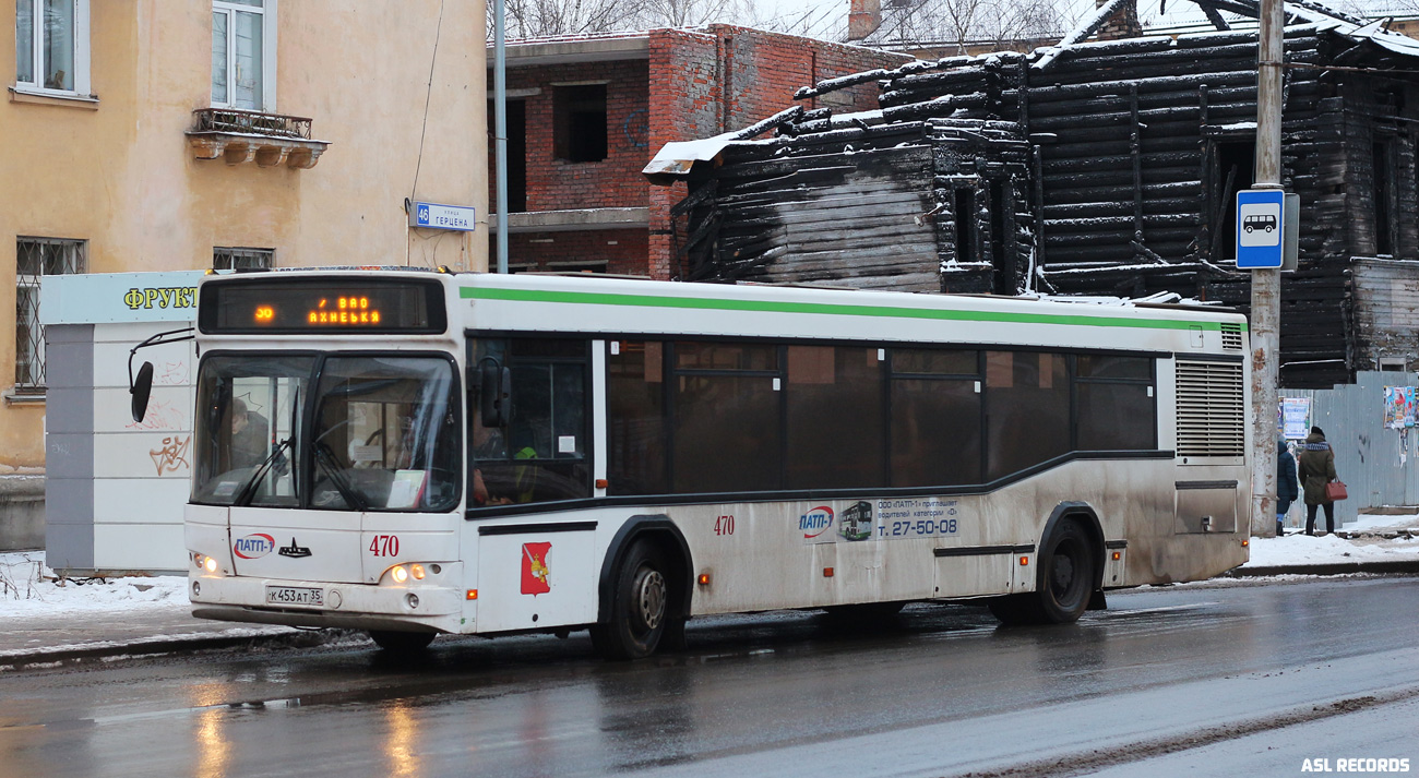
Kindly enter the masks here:
M 1088 41 L 1124 1 L 1057 47 L 796 95 L 874 81 L 877 111 L 797 106 L 667 146 L 646 172 L 690 183 L 673 212 L 680 277 L 1246 308 L 1235 202 L 1253 176 L 1257 47 L 1218 9 L 1256 6 L 1206 0 L 1213 33 Z M 1286 7 L 1283 185 L 1301 196 L 1301 258 L 1283 273 L 1281 383 L 1412 371 L 1419 41 Z

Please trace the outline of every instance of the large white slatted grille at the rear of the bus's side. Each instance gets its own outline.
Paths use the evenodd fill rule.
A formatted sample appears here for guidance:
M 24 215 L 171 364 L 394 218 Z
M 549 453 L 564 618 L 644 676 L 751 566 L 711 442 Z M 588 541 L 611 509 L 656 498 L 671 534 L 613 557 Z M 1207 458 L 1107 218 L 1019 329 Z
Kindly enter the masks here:
M 1237 362 L 1178 361 L 1178 456 L 1240 457 L 1246 386 Z

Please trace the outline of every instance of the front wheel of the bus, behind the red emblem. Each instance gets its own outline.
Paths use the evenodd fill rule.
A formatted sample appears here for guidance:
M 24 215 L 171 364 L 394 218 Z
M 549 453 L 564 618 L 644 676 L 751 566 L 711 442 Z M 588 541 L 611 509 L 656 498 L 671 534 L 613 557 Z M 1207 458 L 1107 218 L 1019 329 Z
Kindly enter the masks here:
M 592 626 L 592 645 L 607 659 L 641 659 L 656 653 L 677 616 L 671 606 L 670 568 L 660 548 L 636 541 L 616 571 L 612 612 Z M 683 628 L 681 628 L 683 629 Z

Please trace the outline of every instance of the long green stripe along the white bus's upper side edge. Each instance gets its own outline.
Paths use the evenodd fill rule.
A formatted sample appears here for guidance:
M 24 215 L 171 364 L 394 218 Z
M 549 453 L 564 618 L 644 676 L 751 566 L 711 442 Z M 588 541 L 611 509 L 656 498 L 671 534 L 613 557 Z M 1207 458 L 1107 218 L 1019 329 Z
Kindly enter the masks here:
M 639 308 L 692 308 L 701 311 L 756 311 L 776 314 L 820 314 L 833 317 L 887 317 L 942 321 L 996 321 L 1013 324 L 1069 324 L 1077 327 L 1138 327 L 1151 329 L 1220 329 L 1216 321 L 1174 321 L 1147 318 L 1084 317 L 1070 314 L 1010 314 L 992 311 L 934 311 L 894 305 L 843 305 L 834 302 L 779 302 L 771 300 L 714 300 L 702 297 L 661 297 L 648 294 L 569 292 L 546 290 L 494 290 L 460 287 L 463 300 L 504 300 L 519 302 L 566 302 L 575 305 L 631 305 Z M 1242 322 L 1242 329 L 1247 329 Z

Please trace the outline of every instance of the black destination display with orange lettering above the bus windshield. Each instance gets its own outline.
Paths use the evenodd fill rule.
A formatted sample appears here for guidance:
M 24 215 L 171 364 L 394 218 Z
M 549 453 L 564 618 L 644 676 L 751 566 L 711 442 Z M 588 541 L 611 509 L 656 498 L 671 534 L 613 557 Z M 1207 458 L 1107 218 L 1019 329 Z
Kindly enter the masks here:
M 438 284 L 243 281 L 201 290 L 203 332 L 443 332 Z

